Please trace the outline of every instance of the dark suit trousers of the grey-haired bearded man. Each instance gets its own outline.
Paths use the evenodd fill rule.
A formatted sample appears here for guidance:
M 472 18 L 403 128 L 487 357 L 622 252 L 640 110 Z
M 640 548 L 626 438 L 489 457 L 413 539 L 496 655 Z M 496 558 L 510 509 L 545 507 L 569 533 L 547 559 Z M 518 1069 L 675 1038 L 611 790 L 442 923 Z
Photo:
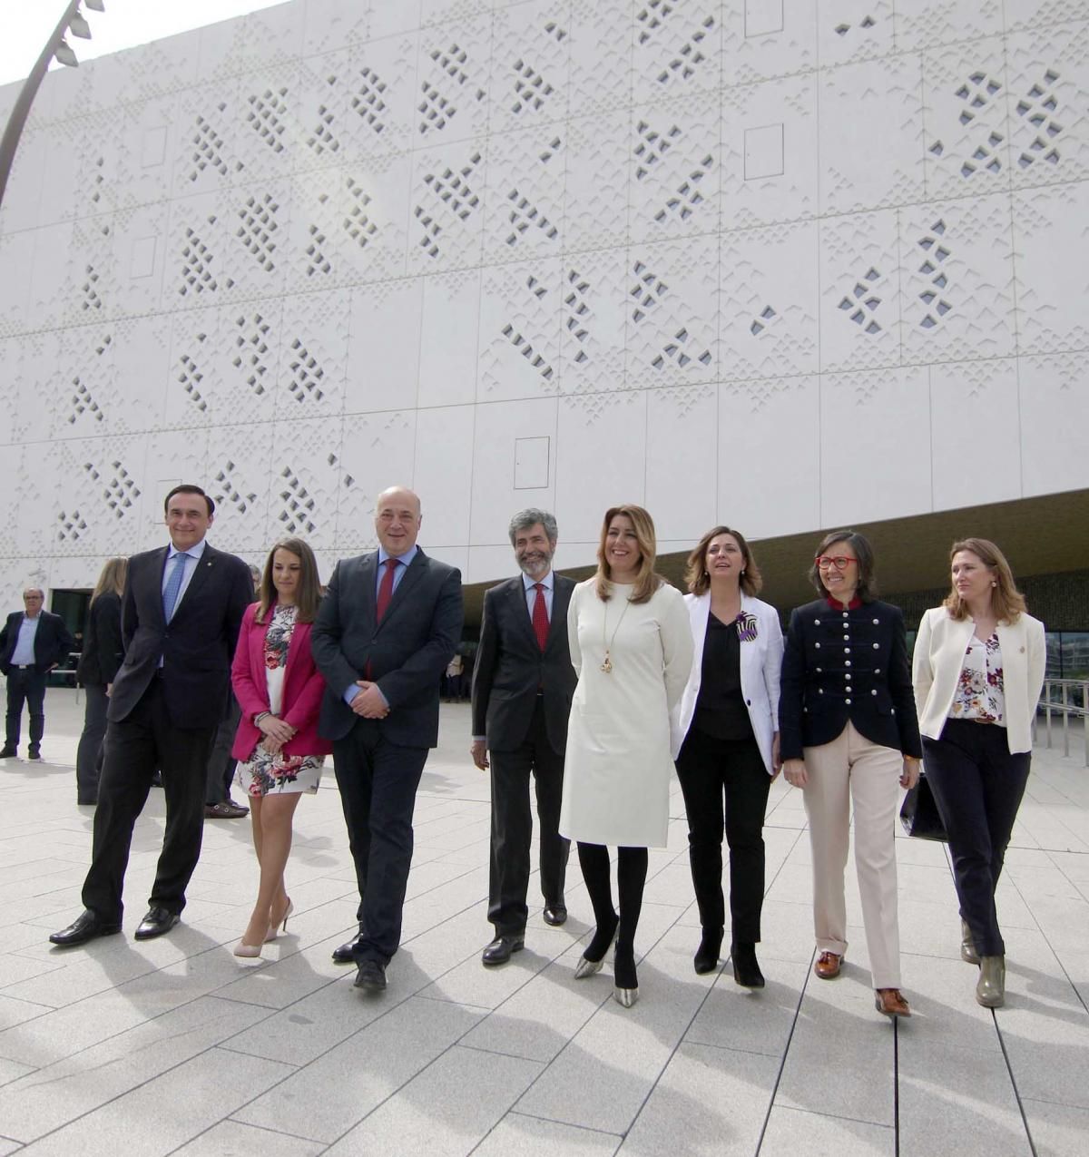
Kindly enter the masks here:
M 492 751 L 492 854 L 487 918 L 496 936 L 525 930 L 529 908 L 529 849 L 534 813 L 529 778 L 534 776 L 540 820 L 540 892 L 546 907 L 564 904 L 571 841 L 560 835 L 564 753 L 549 743 L 544 700 L 537 697 L 525 742 L 513 751 Z

